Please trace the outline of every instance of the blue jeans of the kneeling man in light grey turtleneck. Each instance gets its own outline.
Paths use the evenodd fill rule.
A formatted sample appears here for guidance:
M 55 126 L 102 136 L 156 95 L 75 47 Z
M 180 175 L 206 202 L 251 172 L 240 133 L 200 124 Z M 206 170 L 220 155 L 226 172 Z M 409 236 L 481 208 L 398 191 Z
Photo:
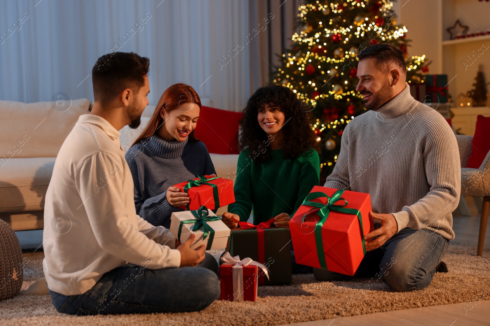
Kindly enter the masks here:
M 368 251 L 354 276 L 314 268 L 321 281 L 370 277 L 395 291 L 421 290 L 430 285 L 449 241 L 429 230 L 404 228 L 381 247 Z

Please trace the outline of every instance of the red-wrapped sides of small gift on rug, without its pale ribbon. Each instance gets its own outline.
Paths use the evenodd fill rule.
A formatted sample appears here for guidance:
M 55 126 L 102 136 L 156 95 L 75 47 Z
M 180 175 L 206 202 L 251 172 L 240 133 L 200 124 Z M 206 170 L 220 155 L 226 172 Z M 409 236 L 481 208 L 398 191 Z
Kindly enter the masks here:
M 233 290 L 233 266 L 222 264 L 220 266 L 221 300 L 227 301 L 255 301 L 258 291 L 258 272 L 256 265 L 243 266 L 242 289 Z M 243 293 L 243 300 L 240 294 Z

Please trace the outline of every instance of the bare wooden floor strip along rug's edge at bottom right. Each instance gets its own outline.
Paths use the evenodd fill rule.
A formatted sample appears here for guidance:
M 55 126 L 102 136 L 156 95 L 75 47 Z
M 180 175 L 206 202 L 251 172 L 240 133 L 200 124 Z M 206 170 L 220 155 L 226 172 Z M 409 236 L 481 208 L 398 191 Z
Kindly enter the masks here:
M 288 326 L 477 326 L 490 325 L 490 301 L 377 312 Z

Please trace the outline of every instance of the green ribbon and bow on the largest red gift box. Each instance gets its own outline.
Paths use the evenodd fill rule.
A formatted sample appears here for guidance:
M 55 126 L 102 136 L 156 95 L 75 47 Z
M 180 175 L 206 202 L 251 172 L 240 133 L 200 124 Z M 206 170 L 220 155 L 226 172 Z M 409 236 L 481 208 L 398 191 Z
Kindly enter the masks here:
M 353 214 L 357 216 L 357 218 L 359 219 L 359 225 L 361 226 L 361 239 L 363 243 L 363 251 L 364 254 L 366 255 L 366 241 L 364 240 L 364 228 L 363 228 L 363 219 L 361 217 L 361 212 L 355 208 L 344 208 L 345 206 L 348 205 L 348 202 L 347 200 L 341 197 L 343 192 L 344 192 L 343 190 L 339 189 L 332 195 L 332 197 L 322 192 L 310 193 L 308 194 L 308 196 L 306 196 L 303 203 L 301 204 L 301 205 L 313 206 L 313 208 L 310 209 L 308 212 L 306 212 L 306 214 L 303 216 L 303 222 L 305 221 L 305 218 L 308 215 L 308 213 L 310 213 L 315 209 L 319 209 L 317 215 L 320 217 L 320 219 L 315 225 L 315 241 L 317 243 L 318 259 L 322 269 L 327 269 L 327 263 L 325 261 L 325 253 L 323 250 L 323 240 L 321 239 L 321 228 L 323 227 L 323 224 L 325 224 L 325 221 L 327 220 L 327 217 L 330 214 L 331 210 L 347 213 L 347 214 Z M 311 201 L 312 199 L 317 199 L 321 197 L 328 198 L 326 204 Z M 343 205 L 335 205 L 335 203 L 339 200 L 343 200 L 345 203 Z

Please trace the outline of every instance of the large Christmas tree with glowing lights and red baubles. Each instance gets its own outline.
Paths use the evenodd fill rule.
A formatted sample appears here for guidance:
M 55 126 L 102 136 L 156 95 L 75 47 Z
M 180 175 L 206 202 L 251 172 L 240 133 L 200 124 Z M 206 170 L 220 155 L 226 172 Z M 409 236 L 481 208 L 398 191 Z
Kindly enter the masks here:
M 290 87 L 312 115 L 322 175 L 330 174 L 345 126 L 366 111 L 357 86 L 357 54 L 370 44 L 398 46 L 407 58 L 407 28 L 386 0 L 306 1 L 299 6 L 294 45 L 283 54 L 274 83 Z M 423 83 L 425 56 L 407 60 L 407 82 Z

